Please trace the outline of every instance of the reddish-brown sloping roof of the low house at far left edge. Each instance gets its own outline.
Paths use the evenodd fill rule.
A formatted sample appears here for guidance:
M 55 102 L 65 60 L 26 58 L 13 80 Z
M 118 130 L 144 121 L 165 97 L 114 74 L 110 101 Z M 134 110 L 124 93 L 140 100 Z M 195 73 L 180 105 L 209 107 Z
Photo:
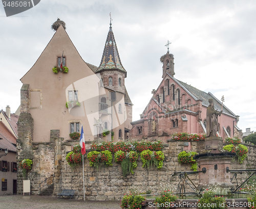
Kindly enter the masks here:
M 16 152 L 16 147 L 13 145 L 16 144 L 16 138 L 2 121 L 0 121 L 0 138 L 2 138 L 0 148 Z

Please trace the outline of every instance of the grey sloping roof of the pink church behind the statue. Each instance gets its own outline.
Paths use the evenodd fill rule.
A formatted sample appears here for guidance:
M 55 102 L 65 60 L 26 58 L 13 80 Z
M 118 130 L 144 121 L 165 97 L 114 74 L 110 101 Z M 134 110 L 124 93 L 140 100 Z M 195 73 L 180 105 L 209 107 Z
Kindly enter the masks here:
M 209 106 L 209 98 L 214 99 L 214 106 L 215 109 L 217 109 L 218 111 L 221 110 L 221 102 L 214 96 L 212 95 L 210 92 L 206 93 L 204 91 L 201 91 L 193 86 L 190 86 L 182 81 L 176 80 L 178 81 L 190 94 L 192 94 L 196 99 L 201 99 L 202 100 L 202 105 L 208 107 Z M 232 113 L 227 107 L 225 107 L 223 105 L 223 113 L 231 115 L 236 117 L 236 115 L 234 113 Z

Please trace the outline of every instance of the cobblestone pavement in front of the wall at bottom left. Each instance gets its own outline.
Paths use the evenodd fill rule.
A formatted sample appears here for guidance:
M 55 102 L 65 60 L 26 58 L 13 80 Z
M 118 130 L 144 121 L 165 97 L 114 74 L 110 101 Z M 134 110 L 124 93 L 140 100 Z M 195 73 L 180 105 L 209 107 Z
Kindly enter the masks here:
M 53 196 L 38 195 L 9 195 L 0 196 L 0 208 L 37 209 L 120 209 L 120 201 L 91 201 L 57 198 Z

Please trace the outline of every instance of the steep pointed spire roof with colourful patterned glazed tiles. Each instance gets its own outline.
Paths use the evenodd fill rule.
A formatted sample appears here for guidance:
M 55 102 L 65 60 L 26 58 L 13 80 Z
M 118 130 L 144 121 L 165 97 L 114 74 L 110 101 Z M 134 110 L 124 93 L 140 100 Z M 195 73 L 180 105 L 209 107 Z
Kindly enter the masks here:
M 111 24 L 110 24 L 110 30 L 109 30 L 108 36 L 106 37 L 106 43 L 104 46 L 101 62 L 96 72 L 99 72 L 105 69 L 107 70 L 118 69 L 123 72 L 126 72 L 126 70 L 122 66 L 122 63 L 118 54 L 117 45 L 116 45 Z

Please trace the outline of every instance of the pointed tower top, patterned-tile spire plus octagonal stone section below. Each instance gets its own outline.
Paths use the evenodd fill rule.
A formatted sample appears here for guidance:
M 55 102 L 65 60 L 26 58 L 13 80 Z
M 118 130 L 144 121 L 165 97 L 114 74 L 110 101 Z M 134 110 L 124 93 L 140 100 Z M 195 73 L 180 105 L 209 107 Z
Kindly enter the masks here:
M 124 79 L 127 72 L 122 66 L 118 54 L 114 33 L 112 31 L 111 19 L 110 30 L 106 37 L 101 62 L 96 73 L 100 73 L 104 87 L 125 93 Z

